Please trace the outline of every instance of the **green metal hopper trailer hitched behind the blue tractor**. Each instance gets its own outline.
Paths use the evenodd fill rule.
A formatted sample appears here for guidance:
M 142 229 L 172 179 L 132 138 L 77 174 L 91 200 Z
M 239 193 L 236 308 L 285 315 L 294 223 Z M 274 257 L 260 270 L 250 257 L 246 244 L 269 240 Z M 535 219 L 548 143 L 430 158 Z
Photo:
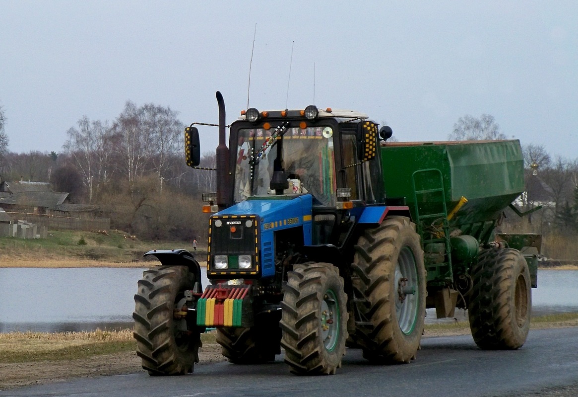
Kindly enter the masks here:
M 538 286 L 541 237 L 495 233 L 505 209 L 524 191 L 520 142 L 384 142 L 381 161 L 388 197 L 399 197 L 408 205 L 421 236 L 427 307 L 435 307 L 440 318 L 452 317 L 455 307 L 470 308 L 472 332 L 484 344 L 488 330 L 476 324 L 494 314 L 485 313 L 490 309 L 483 310 L 481 300 L 493 288 L 487 284 L 506 271 L 502 262 L 518 260 L 514 267 L 524 273 L 520 251 L 525 252 L 530 285 Z M 497 254 L 499 250 L 507 253 L 506 258 Z M 491 266 L 497 269 L 488 274 L 486 268 Z M 515 299 L 529 296 L 527 289 L 521 283 L 514 286 Z M 481 318 L 472 313 L 476 310 L 484 312 Z M 514 313 L 517 322 L 529 320 L 524 318 L 529 313 Z M 492 343 L 519 345 L 519 337 Z

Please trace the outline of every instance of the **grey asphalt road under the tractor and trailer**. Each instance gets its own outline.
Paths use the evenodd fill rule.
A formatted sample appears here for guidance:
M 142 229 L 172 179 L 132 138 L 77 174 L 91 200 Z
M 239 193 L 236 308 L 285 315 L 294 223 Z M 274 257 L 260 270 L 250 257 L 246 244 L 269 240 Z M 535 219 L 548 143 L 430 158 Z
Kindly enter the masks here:
M 348 350 L 335 376 L 294 376 L 279 358 L 270 365 L 198 365 L 182 377 L 138 373 L 78 379 L 0 396 L 496 397 L 576 384 L 578 328 L 573 327 L 533 330 L 517 351 L 482 351 L 471 336 L 424 339 L 409 365 L 372 366 L 361 351 Z

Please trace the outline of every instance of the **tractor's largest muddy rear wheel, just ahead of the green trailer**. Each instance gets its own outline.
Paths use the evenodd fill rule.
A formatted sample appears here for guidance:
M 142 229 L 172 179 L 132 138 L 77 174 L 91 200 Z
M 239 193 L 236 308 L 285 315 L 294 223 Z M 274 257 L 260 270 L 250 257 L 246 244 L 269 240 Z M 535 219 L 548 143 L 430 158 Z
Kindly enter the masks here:
M 353 288 L 364 358 L 409 363 L 420 347 L 425 319 L 425 267 L 416 225 L 391 216 L 355 245 Z M 361 302 L 360 302 L 361 300 Z

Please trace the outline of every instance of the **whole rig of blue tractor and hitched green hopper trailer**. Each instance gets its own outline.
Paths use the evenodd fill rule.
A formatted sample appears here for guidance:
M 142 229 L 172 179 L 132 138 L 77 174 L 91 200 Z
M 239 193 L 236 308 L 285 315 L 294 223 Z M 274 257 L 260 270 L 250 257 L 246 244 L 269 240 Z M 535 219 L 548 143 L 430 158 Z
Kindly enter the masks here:
M 390 142 L 363 113 L 314 105 L 249 108 L 226 126 L 217 102 L 210 284 L 184 249 L 146 254 L 161 266 L 139 281 L 133 317 L 150 374 L 191 372 L 206 328 L 237 364 L 283 348 L 292 373 L 334 374 L 346 346 L 407 363 L 426 308 L 467 309 L 480 348 L 524 344 L 540 236 L 498 233 L 524 190 L 520 142 Z M 186 128 L 186 160 L 209 172 L 200 124 L 216 126 Z

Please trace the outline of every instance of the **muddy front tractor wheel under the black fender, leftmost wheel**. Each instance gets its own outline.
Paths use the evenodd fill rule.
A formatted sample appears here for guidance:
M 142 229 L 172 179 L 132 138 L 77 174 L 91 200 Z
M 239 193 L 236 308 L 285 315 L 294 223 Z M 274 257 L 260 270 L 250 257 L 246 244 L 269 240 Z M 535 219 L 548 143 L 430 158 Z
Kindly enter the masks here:
M 194 275 L 186 266 L 158 266 L 145 270 L 135 295 L 136 354 L 150 375 L 183 375 L 199 362 L 201 332 L 183 317 L 184 291 Z

